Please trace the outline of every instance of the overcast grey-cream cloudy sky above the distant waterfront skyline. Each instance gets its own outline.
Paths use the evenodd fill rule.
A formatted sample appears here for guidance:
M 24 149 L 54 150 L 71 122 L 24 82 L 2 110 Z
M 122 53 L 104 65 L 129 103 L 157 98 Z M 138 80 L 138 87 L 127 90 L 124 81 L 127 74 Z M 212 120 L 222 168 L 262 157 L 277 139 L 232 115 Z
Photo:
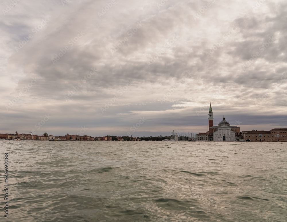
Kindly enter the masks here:
M 206 132 L 210 102 L 214 125 L 225 115 L 241 131 L 287 128 L 286 1 L 3 0 L 0 9 L 1 133 Z

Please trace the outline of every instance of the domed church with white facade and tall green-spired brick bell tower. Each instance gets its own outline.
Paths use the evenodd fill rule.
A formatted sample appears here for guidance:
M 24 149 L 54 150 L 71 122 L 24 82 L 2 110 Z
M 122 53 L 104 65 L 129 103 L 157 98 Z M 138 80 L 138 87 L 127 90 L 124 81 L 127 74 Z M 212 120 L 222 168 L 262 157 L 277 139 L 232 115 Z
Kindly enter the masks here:
M 210 104 L 208 112 L 208 141 L 236 141 L 241 138 L 240 127 L 230 126 L 223 116 L 218 126 L 213 126 L 213 111 Z

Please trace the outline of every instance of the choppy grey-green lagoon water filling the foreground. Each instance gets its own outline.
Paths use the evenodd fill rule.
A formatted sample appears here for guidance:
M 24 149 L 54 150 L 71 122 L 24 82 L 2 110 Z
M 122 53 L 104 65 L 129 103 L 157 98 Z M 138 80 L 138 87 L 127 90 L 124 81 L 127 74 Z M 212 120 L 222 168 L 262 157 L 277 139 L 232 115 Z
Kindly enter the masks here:
M 0 141 L 0 150 L 10 171 L 0 221 L 287 221 L 287 143 Z

